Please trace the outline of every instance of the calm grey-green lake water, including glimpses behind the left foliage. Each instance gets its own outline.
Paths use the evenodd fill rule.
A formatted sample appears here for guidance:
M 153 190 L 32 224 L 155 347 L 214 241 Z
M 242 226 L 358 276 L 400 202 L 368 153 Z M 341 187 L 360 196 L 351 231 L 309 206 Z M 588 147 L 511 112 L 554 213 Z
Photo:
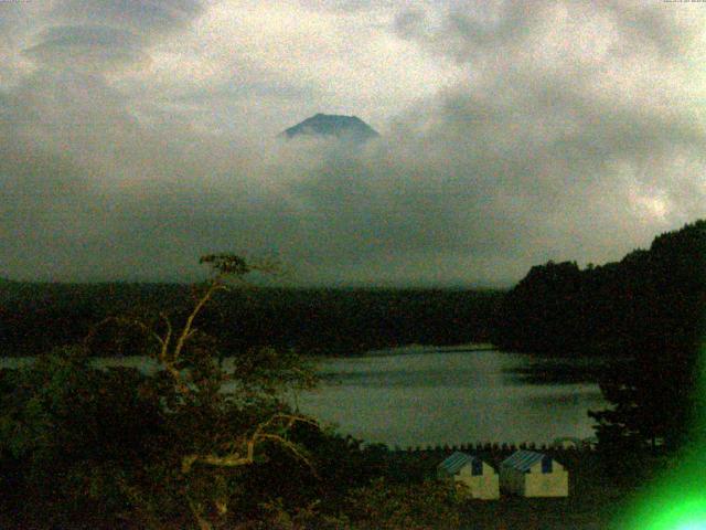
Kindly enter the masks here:
M 0 359 L 17 367 L 28 359 Z M 593 435 L 588 410 L 606 406 L 595 359 L 556 360 L 473 347 L 396 348 L 324 359 L 317 391 L 292 396 L 343 434 L 389 446 L 537 444 Z M 146 358 L 101 365 L 157 367 Z

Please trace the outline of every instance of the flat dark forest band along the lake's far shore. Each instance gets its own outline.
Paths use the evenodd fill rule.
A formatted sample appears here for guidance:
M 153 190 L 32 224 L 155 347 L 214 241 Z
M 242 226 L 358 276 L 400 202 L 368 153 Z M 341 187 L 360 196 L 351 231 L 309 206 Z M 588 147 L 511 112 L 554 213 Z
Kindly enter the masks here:
M 178 284 L 33 284 L 0 280 L 0 356 L 36 354 L 81 340 L 109 316 L 186 307 Z M 468 289 L 261 287 L 220 293 L 202 326 L 225 352 L 269 346 L 307 354 L 350 354 L 409 343 L 488 341 L 502 293 Z M 96 344 L 129 354 L 136 337 Z

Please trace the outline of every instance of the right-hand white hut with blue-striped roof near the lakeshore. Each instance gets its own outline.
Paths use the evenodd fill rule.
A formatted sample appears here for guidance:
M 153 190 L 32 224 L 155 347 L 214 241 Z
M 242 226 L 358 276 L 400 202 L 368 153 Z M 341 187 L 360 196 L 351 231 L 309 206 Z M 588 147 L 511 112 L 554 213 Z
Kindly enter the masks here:
M 500 465 L 500 487 L 522 497 L 567 497 L 569 474 L 548 455 L 517 451 Z

